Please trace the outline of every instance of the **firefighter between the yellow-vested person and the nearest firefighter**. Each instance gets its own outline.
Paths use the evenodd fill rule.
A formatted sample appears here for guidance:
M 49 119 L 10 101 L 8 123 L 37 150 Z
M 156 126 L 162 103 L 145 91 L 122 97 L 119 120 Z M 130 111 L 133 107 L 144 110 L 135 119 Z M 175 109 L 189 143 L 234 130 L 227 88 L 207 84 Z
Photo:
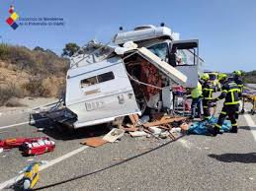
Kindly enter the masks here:
M 205 116 L 205 119 L 208 120 L 211 118 L 210 109 L 211 109 L 211 103 L 213 100 L 214 89 L 213 89 L 213 84 L 209 81 L 210 80 L 209 74 L 203 74 L 201 79 L 204 82 L 202 85 L 204 116 Z

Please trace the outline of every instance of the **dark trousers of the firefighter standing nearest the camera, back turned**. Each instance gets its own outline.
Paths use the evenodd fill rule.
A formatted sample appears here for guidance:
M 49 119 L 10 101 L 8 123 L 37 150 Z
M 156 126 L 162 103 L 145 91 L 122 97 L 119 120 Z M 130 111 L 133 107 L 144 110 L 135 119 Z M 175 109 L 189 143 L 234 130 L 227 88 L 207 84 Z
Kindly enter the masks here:
M 218 120 L 215 126 L 220 129 L 225 120 L 225 117 L 228 116 L 229 120 L 231 121 L 232 128 L 237 129 L 235 114 L 238 108 L 239 104 L 224 105 L 218 116 Z

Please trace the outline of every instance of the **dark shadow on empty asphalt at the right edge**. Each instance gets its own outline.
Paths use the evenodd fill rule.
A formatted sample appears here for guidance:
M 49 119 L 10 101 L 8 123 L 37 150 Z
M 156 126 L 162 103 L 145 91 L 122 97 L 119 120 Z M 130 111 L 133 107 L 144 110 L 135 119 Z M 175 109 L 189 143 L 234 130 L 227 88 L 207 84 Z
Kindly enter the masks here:
M 256 153 L 248 154 L 222 154 L 222 155 L 209 155 L 210 158 L 217 159 L 224 162 L 242 162 L 242 163 L 256 163 Z

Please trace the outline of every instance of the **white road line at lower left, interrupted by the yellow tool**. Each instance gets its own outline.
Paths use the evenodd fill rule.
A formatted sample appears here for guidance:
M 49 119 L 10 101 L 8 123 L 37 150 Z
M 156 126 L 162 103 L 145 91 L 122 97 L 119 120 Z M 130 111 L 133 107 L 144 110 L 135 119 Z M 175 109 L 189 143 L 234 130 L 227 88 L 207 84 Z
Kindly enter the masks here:
M 76 150 L 74 150 L 74 151 L 72 151 L 70 153 L 65 154 L 64 156 L 61 156 L 61 157 L 56 158 L 56 159 L 49 160 L 47 163 L 45 163 L 45 164 L 40 166 L 40 170 L 42 171 L 43 169 L 48 168 L 48 167 L 50 167 L 50 166 L 52 166 L 52 165 L 54 165 L 54 164 L 56 164 L 56 163 L 58 163 L 58 162 L 60 162 L 60 161 L 62 161 L 64 159 L 68 159 L 68 158 L 70 158 L 70 157 L 72 157 L 72 156 L 74 156 L 76 154 L 79 154 L 79 153 L 83 152 L 87 148 L 88 148 L 88 146 L 83 146 L 83 147 L 81 147 L 79 149 L 76 149 Z M 17 179 L 21 179 L 22 177 L 23 177 L 23 174 L 21 174 L 21 175 L 19 175 L 17 177 L 11 178 L 11 179 L 1 183 L 0 184 L 0 190 L 4 189 L 6 187 L 9 187 L 10 185 L 13 185 Z

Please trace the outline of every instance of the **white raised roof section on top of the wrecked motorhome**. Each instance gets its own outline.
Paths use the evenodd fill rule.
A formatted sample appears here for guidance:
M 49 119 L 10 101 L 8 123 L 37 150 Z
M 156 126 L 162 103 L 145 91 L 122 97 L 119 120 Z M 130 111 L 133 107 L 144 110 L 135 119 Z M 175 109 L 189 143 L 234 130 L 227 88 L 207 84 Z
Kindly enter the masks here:
M 168 37 L 172 40 L 179 39 L 179 33 L 172 32 L 167 27 L 155 27 L 151 25 L 139 26 L 130 32 L 119 32 L 115 35 L 113 42 L 115 44 L 124 44 L 127 41 L 141 41 L 157 37 Z

